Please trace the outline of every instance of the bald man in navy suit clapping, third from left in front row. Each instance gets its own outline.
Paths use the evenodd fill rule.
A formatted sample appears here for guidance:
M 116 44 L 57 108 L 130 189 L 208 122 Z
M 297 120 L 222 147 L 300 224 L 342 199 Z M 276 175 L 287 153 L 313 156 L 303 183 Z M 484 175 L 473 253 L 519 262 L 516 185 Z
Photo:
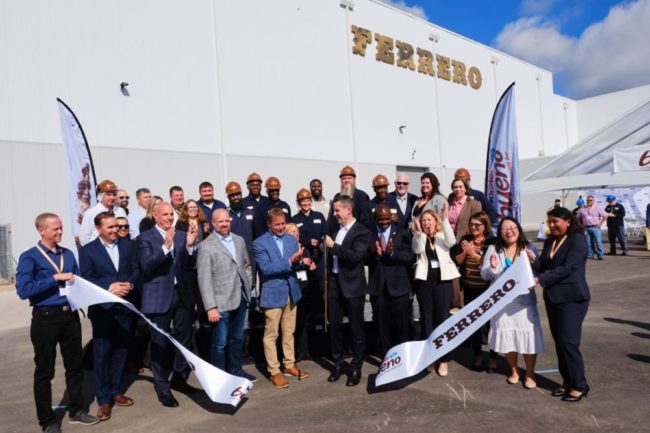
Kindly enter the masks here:
M 179 343 L 189 348 L 195 315 L 195 294 L 192 287 L 183 285 L 183 269 L 194 261 L 196 229 L 188 233 L 176 232 L 173 227 L 174 209 L 166 202 L 154 212 L 156 225 L 138 236 L 138 259 L 142 270 L 141 311 L 159 328 L 169 332 Z M 194 303 L 193 303 L 194 300 Z M 151 371 L 158 399 L 167 407 L 178 406 L 171 386 L 187 391 L 190 369 L 180 352 L 172 366 L 172 345 L 159 332 L 151 334 Z M 170 382 L 169 376 L 172 374 Z

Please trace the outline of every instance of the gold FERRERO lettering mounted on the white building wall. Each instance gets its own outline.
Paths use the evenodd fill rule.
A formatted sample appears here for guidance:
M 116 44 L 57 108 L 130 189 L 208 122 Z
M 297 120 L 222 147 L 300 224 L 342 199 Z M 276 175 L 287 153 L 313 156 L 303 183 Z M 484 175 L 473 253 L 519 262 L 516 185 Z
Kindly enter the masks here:
M 424 48 L 413 47 L 413 45 L 394 40 L 390 36 L 376 33 L 357 26 L 352 26 L 354 35 L 352 42 L 352 54 L 361 57 L 366 56 L 368 45 L 375 44 L 375 60 L 378 62 L 396 65 L 398 68 L 417 71 L 420 74 L 438 77 L 451 81 L 462 86 L 469 85 L 472 89 L 480 89 L 483 78 L 481 71 L 475 67 L 469 68 L 460 60 L 452 59 L 441 54 L 433 53 Z

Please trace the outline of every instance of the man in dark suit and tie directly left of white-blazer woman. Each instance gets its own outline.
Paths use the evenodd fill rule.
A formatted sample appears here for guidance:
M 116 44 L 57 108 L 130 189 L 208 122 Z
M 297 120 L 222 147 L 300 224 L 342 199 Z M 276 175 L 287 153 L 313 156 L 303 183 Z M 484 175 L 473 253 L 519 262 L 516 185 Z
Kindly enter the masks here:
M 374 215 L 375 242 L 368 260 L 368 293 L 375 299 L 379 347 L 385 354 L 409 338 L 409 270 L 415 256 L 408 231 L 391 224 L 393 214 L 388 205 L 378 205 Z

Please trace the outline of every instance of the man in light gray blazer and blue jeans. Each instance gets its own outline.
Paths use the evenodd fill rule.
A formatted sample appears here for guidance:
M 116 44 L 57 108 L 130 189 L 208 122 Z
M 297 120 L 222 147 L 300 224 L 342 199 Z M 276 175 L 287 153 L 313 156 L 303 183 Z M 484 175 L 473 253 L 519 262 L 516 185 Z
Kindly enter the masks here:
M 246 242 L 231 233 L 226 210 L 214 211 L 212 225 L 214 232 L 198 245 L 196 258 L 201 298 L 208 321 L 213 324 L 210 361 L 217 368 L 255 382 L 255 376 L 242 369 L 241 356 L 244 319 L 253 284 Z

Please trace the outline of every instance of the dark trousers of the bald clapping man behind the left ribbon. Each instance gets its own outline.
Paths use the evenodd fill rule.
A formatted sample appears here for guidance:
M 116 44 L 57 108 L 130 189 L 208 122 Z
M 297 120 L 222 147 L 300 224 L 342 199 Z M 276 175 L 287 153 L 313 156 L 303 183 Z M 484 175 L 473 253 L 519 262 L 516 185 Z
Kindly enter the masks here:
M 174 291 L 171 308 L 163 314 L 147 314 L 149 320 L 165 332 L 170 332 L 173 323 L 172 336 L 187 349 L 191 349 L 192 325 L 194 312 L 188 310 L 179 302 L 178 294 Z M 175 354 L 174 354 L 175 352 Z M 151 372 L 153 373 L 154 388 L 158 394 L 166 394 L 171 388 L 170 374 L 186 380 L 190 368 L 180 351 L 174 351 L 171 341 L 160 332 L 151 333 Z

